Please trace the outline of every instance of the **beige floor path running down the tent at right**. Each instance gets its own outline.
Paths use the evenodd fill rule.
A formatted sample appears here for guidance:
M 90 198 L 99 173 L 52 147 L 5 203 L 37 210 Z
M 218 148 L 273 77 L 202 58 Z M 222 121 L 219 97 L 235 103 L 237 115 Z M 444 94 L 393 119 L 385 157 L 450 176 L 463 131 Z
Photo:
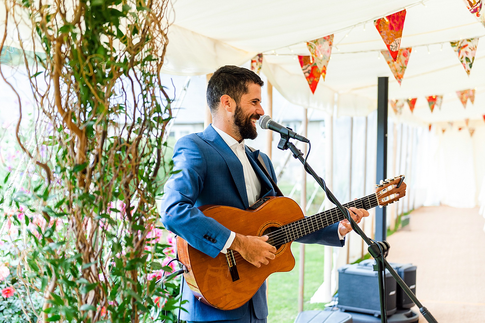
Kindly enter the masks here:
M 416 294 L 439 323 L 485 323 L 484 222 L 478 209 L 423 207 L 388 237 L 388 260 L 418 266 Z

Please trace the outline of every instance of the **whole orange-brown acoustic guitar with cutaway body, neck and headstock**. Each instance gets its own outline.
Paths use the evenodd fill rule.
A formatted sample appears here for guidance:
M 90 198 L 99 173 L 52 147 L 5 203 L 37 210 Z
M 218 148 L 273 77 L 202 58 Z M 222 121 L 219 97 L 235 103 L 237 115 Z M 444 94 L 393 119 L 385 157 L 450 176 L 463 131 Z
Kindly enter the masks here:
M 369 210 L 393 203 L 405 195 L 403 180 L 402 175 L 387 179 L 377 185 L 374 194 L 343 206 Z M 337 208 L 305 217 L 295 201 L 275 196 L 261 198 L 247 210 L 216 205 L 199 209 L 231 231 L 251 236 L 267 235 L 267 242 L 276 247 L 276 258 L 257 268 L 237 251 L 227 250 L 226 254 L 212 258 L 177 237 L 178 258 L 187 267 L 184 277 L 195 297 L 211 307 L 226 310 L 249 301 L 272 273 L 293 269 L 292 241 L 345 218 Z

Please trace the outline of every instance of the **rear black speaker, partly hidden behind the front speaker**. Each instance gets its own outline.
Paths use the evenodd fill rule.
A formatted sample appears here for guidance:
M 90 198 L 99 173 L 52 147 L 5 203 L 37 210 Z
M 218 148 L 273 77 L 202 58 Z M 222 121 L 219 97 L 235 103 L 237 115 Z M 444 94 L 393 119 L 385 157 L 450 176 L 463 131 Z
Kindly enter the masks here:
M 359 266 L 367 266 L 371 267 L 374 265 L 374 259 L 367 259 L 359 263 Z M 416 266 L 413 266 L 410 263 L 397 263 L 397 262 L 389 262 L 389 265 L 396 271 L 396 273 L 404 280 L 407 287 L 416 295 Z M 414 306 L 413 301 L 401 286 L 397 285 L 396 287 L 396 295 L 397 295 L 397 308 L 398 309 L 408 309 Z

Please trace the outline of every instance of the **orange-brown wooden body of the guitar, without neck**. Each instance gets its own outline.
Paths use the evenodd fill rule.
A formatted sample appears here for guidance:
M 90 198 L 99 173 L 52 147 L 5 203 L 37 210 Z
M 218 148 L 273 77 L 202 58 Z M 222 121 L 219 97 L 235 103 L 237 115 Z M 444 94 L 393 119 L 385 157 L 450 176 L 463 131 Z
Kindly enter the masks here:
M 263 236 L 272 227 L 304 218 L 298 204 L 287 197 L 271 197 L 256 210 L 215 205 L 199 209 L 229 230 L 247 236 Z M 195 297 L 207 305 L 226 310 L 241 307 L 249 301 L 272 273 L 293 269 L 295 258 L 290 245 L 288 242 L 279 246 L 276 258 L 259 268 L 233 251 L 239 275 L 239 279 L 233 281 L 225 254 L 212 258 L 177 237 L 178 258 L 188 269 L 184 277 Z

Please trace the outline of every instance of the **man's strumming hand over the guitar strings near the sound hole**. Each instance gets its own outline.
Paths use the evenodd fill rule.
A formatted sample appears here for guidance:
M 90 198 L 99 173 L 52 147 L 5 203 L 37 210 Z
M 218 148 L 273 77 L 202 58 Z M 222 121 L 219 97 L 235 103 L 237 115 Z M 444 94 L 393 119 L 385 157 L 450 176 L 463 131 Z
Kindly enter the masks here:
M 261 264 L 267 265 L 270 259 L 275 259 L 276 248 L 267 243 L 268 236 L 243 236 L 236 233 L 236 237 L 229 249 L 236 250 L 256 267 L 261 267 Z

